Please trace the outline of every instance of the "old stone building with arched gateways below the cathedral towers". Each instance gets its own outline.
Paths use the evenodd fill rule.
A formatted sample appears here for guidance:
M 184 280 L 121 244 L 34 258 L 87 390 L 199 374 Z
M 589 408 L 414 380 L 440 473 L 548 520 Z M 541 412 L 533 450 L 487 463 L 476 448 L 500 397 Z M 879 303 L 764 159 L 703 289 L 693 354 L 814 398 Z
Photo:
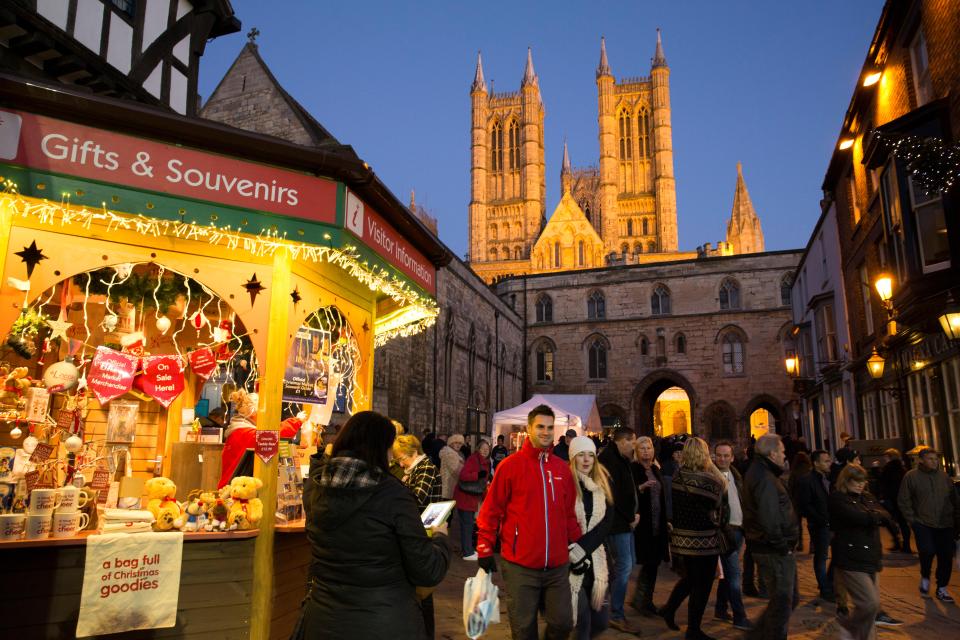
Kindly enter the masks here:
M 497 292 L 527 327 L 528 394 L 596 394 L 606 425 L 649 435 L 743 440 L 767 426 L 794 432 L 798 406 L 783 359 L 793 348 L 790 278 L 800 255 L 501 281 Z

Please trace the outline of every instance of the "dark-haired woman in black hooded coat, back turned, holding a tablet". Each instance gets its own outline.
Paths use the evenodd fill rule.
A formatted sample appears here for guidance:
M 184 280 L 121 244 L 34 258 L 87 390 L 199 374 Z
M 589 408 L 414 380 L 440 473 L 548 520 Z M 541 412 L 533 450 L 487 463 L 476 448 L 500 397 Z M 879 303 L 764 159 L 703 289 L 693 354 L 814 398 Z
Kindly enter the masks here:
M 446 525 L 427 536 L 413 495 L 388 472 L 395 435 L 386 417 L 362 411 L 340 430 L 330 457 L 311 458 L 303 638 L 425 637 L 416 587 L 443 580 L 450 544 Z

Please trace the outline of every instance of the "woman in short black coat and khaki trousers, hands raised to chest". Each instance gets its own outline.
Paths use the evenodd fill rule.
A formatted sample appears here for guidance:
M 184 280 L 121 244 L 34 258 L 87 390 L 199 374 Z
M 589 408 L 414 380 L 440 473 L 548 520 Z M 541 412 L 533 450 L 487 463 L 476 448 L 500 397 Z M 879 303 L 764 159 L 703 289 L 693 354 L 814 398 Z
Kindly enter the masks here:
M 876 638 L 874 620 L 880 612 L 877 574 L 883 567 L 880 524 L 890 519 L 890 514 L 867 493 L 867 480 L 863 467 L 848 464 L 837 476 L 836 489 L 829 498 L 833 569 L 853 604 L 840 624 L 856 640 Z

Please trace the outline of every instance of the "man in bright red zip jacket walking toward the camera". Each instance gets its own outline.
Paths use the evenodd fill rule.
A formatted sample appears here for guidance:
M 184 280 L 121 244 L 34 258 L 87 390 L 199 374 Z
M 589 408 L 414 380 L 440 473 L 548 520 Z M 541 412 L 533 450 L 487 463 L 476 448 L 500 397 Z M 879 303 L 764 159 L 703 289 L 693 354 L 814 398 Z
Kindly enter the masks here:
M 493 548 L 500 535 L 503 579 L 514 640 L 536 640 L 537 609 L 545 604 L 546 640 L 565 640 L 573 629 L 569 563 L 586 553 L 576 544 L 580 525 L 570 468 L 552 454 L 553 409 L 535 407 L 527 438 L 516 455 L 497 466 L 477 518 L 480 567 L 497 570 Z

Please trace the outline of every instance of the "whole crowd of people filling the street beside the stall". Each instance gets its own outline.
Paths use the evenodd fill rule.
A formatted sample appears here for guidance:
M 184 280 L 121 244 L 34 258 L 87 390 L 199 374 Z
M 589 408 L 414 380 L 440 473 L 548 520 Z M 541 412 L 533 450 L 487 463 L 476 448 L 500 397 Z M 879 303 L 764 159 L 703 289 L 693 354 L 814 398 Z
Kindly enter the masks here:
M 630 608 L 679 631 L 686 601 L 687 639 L 709 640 L 702 622 L 715 583 L 716 620 L 746 638 L 786 638 L 804 521 L 817 597 L 836 603 L 843 638 L 900 624 L 881 606 L 881 527 L 892 551 L 910 553 L 915 541 L 919 595 L 953 602 L 960 500 L 932 449 L 909 471 L 887 450 L 871 491 L 849 437 L 831 456 L 766 434 L 738 457 L 727 441 L 654 442 L 618 427 L 601 442 L 559 435 L 554 424 L 549 406 L 534 408 L 511 453 L 502 435 L 471 451 L 462 435 L 421 442 L 379 414 L 351 417 L 305 483 L 313 562 L 299 637 L 373 638 L 389 628 L 391 637 L 432 639 L 431 593 L 454 545 L 446 524 L 425 530 L 419 512 L 444 499 L 456 503 L 463 560 L 501 573 L 517 640 L 541 637 L 540 616 L 547 640 L 587 640 L 608 627 L 639 635 L 626 611 L 636 565 Z M 656 590 L 663 564 L 679 576 L 669 593 Z M 767 600 L 753 621 L 744 596 Z

